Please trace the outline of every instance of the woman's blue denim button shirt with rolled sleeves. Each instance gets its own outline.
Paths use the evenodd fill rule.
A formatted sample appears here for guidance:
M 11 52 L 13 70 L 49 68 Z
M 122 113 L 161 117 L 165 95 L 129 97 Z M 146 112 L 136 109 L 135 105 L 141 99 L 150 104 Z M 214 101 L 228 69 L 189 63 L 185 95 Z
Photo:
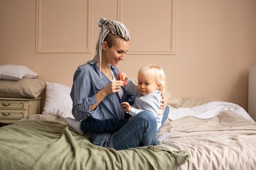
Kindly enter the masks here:
M 111 66 L 115 75 L 119 70 L 115 66 Z M 106 87 L 110 80 L 101 72 L 102 82 Z M 76 120 L 83 120 L 87 117 L 104 120 L 110 118 L 125 119 L 125 112 L 120 108 L 121 102 L 127 102 L 127 92 L 124 89 L 122 99 L 119 93 L 114 93 L 106 96 L 101 103 L 92 111 L 90 107 L 97 102 L 96 94 L 104 88 L 99 76 L 99 68 L 96 61 L 88 61 L 86 64 L 79 66 L 74 73 L 73 85 L 70 96 L 73 101 L 72 114 Z M 95 145 L 107 147 L 108 139 L 111 133 L 95 134 L 91 133 L 91 142 Z

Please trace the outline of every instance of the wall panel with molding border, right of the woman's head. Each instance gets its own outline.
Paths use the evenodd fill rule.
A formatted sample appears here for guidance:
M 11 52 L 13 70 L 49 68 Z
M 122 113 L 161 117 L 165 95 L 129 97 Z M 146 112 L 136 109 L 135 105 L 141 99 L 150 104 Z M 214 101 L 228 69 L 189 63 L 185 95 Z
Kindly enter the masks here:
M 156 2 L 148 0 L 140 0 L 136 2 L 136 6 L 131 1 L 118 0 L 117 18 L 123 22 L 131 33 L 131 46 L 128 54 L 132 55 L 175 55 L 175 41 L 176 41 L 176 0 L 163 0 L 161 7 L 155 6 Z M 160 4 L 158 3 L 158 6 Z M 141 9 L 145 14 L 141 13 Z M 159 11 L 159 9 L 161 9 Z M 129 12 L 130 11 L 130 12 Z M 132 17 L 130 15 L 132 11 Z M 138 18 L 134 17 L 138 13 Z M 143 17 L 143 15 L 145 17 Z M 159 20 L 160 19 L 160 20 Z M 141 22 L 144 22 L 141 24 Z M 141 26 L 139 26 L 141 24 Z M 137 26 L 137 28 L 136 28 Z M 162 27 L 161 27 L 162 26 Z M 159 30 L 162 29 L 162 30 Z M 157 32 L 156 32 L 157 30 Z M 160 31 L 166 34 L 159 34 L 159 36 L 166 36 L 166 42 L 158 42 L 157 36 L 147 40 L 149 36 L 158 34 Z M 143 37 L 143 33 L 146 32 Z M 152 33 L 152 34 L 151 34 Z M 135 35 L 137 34 L 137 35 Z M 145 38 L 146 37 L 146 38 Z M 137 38 L 137 39 L 136 39 Z M 143 42 L 143 40 L 145 41 Z M 155 42 L 154 42 L 155 41 Z M 132 46 L 133 44 L 136 45 Z M 154 46 L 154 44 L 168 44 L 166 46 Z M 135 48 L 136 47 L 136 48 Z

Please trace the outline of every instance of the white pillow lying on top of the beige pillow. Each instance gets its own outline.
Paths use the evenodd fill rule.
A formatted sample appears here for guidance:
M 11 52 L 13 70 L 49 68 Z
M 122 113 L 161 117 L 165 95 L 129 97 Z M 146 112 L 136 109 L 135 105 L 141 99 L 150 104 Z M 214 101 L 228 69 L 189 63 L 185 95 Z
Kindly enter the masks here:
M 22 78 L 34 79 L 37 77 L 34 71 L 22 65 L 0 65 L 0 79 L 17 80 Z

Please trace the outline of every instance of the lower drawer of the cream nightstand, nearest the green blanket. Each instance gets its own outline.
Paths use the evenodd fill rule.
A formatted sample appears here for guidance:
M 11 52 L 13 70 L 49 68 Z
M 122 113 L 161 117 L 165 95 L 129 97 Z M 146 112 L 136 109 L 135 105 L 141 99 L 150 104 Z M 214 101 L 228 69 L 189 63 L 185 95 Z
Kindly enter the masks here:
M 0 111 L 0 119 L 22 119 L 27 116 L 27 112 L 20 112 L 19 110 L 1 110 Z

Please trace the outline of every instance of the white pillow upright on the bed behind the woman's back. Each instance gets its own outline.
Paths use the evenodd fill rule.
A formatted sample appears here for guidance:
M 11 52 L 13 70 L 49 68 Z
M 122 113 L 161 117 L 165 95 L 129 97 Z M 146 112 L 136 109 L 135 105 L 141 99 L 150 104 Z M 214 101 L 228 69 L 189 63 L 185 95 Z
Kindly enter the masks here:
M 46 82 L 46 99 L 43 114 L 51 113 L 61 118 L 71 117 L 74 119 L 70 92 L 71 87 Z

